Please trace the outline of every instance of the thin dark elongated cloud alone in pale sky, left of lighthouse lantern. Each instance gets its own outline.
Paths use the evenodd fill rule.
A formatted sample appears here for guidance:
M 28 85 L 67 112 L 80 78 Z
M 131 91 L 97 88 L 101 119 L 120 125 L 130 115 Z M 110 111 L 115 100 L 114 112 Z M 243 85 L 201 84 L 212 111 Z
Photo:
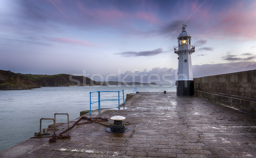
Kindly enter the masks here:
M 122 53 L 115 53 L 116 55 L 121 55 L 122 57 L 148 57 L 148 56 L 153 56 L 153 55 L 159 55 L 161 53 L 164 53 L 166 51 L 163 51 L 163 49 L 154 49 L 151 51 L 142 51 L 142 52 L 122 52 Z

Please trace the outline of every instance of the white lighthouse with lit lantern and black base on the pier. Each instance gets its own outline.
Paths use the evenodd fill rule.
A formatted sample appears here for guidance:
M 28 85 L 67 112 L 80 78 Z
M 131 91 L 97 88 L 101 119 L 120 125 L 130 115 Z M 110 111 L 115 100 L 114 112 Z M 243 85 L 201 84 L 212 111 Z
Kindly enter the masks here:
M 183 24 L 182 32 L 178 37 L 179 46 L 174 48 L 175 53 L 179 55 L 177 95 L 194 95 L 191 54 L 195 52 L 195 46 L 191 46 L 190 41 L 191 36 L 186 32 L 186 25 Z

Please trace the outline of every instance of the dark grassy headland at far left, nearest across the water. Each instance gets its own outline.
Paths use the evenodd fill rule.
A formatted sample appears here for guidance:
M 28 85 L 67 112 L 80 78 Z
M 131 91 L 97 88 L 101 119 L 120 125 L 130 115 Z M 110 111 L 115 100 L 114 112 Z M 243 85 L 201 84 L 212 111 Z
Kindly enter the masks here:
M 0 70 L 0 90 L 33 89 L 44 86 L 92 86 L 99 85 L 84 76 L 68 74 L 25 75 Z

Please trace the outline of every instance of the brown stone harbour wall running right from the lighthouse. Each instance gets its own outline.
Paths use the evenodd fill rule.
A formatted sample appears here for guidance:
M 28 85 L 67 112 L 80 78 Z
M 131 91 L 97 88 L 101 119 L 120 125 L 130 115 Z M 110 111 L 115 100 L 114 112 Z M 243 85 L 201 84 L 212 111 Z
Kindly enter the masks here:
M 256 113 L 256 69 L 194 78 L 195 96 Z

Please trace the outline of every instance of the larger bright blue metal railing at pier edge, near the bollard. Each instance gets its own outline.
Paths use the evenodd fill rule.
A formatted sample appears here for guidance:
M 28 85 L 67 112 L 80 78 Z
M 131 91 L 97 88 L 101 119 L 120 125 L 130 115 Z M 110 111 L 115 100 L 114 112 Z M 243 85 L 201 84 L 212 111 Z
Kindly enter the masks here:
M 122 91 L 122 94 L 123 94 L 123 97 L 122 98 L 120 98 L 120 91 Z M 92 102 L 92 100 L 91 100 L 91 94 L 92 93 L 96 93 L 96 92 L 98 92 L 98 101 L 94 101 L 94 102 Z M 118 99 L 100 99 L 100 92 L 118 92 Z M 91 105 L 93 104 L 93 103 L 98 103 L 98 110 L 100 110 L 100 101 L 118 101 L 118 109 L 120 109 L 120 100 L 121 99 L 123 99 L 123 101 L 124 101 L 124 105 L 125 105 L 125 97 L 124 97 L 124 90 L 122 89 L 122 90 L 119 90 L 119 91 L 94 91 L 94 92 L 90 92 L 90 114 L 92 114 L 92 112 L 91 112 Z

